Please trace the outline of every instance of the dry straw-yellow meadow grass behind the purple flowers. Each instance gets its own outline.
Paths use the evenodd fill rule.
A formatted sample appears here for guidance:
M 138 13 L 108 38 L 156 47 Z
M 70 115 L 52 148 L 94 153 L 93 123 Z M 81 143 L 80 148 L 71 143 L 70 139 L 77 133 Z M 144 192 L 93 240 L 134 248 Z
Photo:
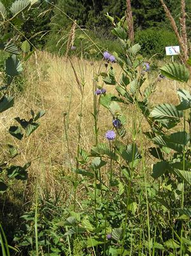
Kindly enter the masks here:
M 73 65 L 78 78 L 85 80 L 85 98 L 83 102 L 83 117 L 81 123 L 81 147 L 90 150 L 94 145 L 93 118 L 90 114 L 92 108 L 92 78 L 94 68 L 98 70 L 101 65 L 104 70 L 104 63 L 73 59 Z M 120 70 L 114 64 L 117 74 Z M 67 112 L 69 151 L 73 163 L 75 162 L 78 124 L 80 112 L 81 94 L 74 77 L 69 61 L 64 57 L 51 56 L 46 52 L 39 52 L 37 64 L 35 59 L 31 59 L 29 68 L 25 70 L 27 76 L 27 89 L 24 94 L 19 95 L 15 107 L 1 115 L 0 131 L 4 134 L 4 139 L 17 144 L 20 148 L 20 156 L 17 161 L 21 164 L 32 160 L 30 169 L 30 179 L 28 184 L 32 184 L 34 177 L 38 177 L 38 183 L 42 188 L 47 188 L 53 195 L 58 190 L 63 190 L 68 194 L 71 190 L 69 185 L 64 183 L 63 175 L 70 172 L 67 154 L 66 138 L 64 136 L 63 112 Z M 178 86 L 178 85 L 177 85 Z M 114 91 L 112 86 L 106 86 L 108 91 Z M 154 104 L 168 102 L 177 103 L 178 99 L 171 81 L 159 82 L 157 89 L 152 96 Z M 46 114 L 41 119 L 41 126 L 32 134 L 29 139 L 18 142 L 17 139 L 10 138 L 8 130 L 13 118 L 16 116 L 29 117 L 30 110 L 45 109 Z M 126 110 L 125 110 L 126 111 Z M 131 108 L 127 110 L 127 140 L 131 140 Z M 101 108 L 100 112 L 99 140 L 103 142 L 104 133 L 112 128 L 112 117 L 107 110 Z M 143 130 L 146 124 L 142 123 Z M 14 140 L 14 141 L 13 141 Z M 146 145 L 146 141 L 145 141 Z M 43 191 L 43 190 L 42 190 Z M 64 197 L 63 193 L 63 197 Z

